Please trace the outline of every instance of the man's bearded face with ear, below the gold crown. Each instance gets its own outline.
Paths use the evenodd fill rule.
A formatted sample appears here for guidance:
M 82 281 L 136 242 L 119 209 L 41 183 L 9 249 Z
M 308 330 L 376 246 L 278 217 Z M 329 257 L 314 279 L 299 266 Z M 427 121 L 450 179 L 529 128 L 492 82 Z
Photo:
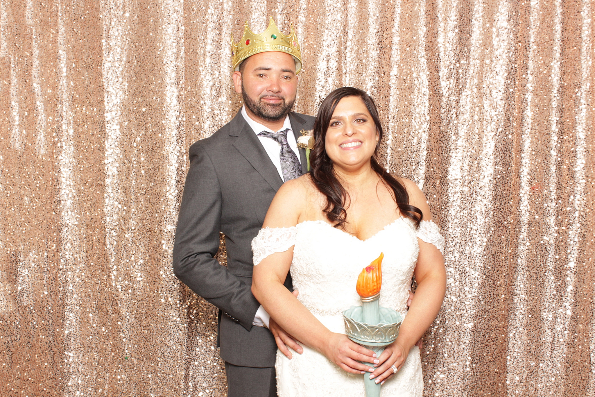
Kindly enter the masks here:
M 242 68 L 242 73 L 234 72 L 233 81 L 246 107 L 267 121 L 285 118 L 297 91 L 293 57 L 280 51 L 260 52 L 247 58 Z

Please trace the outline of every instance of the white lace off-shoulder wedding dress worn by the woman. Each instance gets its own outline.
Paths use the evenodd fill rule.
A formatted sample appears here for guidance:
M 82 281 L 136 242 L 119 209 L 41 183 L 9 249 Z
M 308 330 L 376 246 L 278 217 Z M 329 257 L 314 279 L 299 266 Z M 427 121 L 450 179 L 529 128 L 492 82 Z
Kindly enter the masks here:
M 417 262 L 417 237 L 440 251 L 444 239 L 432 221 L 415 230 L 399 218 L 367 240 L 359 240 L 325 221 L 304 221 L 294 227 L 265 228 L 252 240 L 254 264 L 292 245 L 290 272 L 299 299 L 332 332 L 345 333 L 343 310 L 361 305 L 355 285 L 362 268 L 384 252 L 380 305 L 407 314 L 411 277 Z M 302 345 L 303 346 L 303 345 Z M 324 355 L 303 346 L 289 360 L 277 351 L 277 389 L 280 397 L 364 397 L 364 375 L 346 373 Z M 381 387 L 381 396 L 422 396 L 424 383 L 419 349 L 414 346 L 401 370 Z

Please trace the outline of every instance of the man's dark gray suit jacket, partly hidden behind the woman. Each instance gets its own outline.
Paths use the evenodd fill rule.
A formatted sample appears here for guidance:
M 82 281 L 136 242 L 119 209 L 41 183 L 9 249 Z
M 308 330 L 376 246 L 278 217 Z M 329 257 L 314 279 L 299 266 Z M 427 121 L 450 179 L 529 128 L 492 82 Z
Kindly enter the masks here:
M 311 130 L 314 117 L 290 112 L 293 133 Z M 306 154 L 299 150 L 305 167 Z M 190 146 L 190 169 L 174 243 L 176 276 L 220 309 L 223 360 L 244 367 L 273 367 L 271 332 L 253 327 L 259 303 L 252 295 L 252 249 L 268 206 L 283 180 L 242 113 L 212 136 Z M 226 235 L 227 268 L 213 257 Z M 291 277 L 285 285 L 291 289 Z

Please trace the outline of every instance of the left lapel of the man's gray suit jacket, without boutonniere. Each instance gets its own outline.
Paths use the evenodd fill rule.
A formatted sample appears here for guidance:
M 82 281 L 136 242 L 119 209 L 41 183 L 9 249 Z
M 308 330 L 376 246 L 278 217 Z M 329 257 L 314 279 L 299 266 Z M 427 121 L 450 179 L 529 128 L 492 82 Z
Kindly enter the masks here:
M 242 111 L 237 112 L 231 126 L 231 136 L 237 136 L 233 142 L 233 147 L 242 154 L 246 160 L 254 167 L 256 171 L 267 181 L 267 183 L 277 192 L 283 185 L 283 180 L 279 176 L 277 168 L 268 157 L 267 152 L 262 147 L 262 143 L 252 131 L 252 128 L 246 123 L 242 116 Z

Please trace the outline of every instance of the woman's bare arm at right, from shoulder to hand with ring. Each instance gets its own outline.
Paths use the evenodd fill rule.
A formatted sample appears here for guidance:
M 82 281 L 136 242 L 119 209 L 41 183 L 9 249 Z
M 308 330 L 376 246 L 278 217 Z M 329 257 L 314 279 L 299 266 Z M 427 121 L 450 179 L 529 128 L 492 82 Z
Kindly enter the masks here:
M 403 180 L 409 193 L 409 203 L 423 212 L 424 221 L 432 218 L 430 207 L 425 201 L 424 193 L 410 180 Z M 439 249 L 433 244 L 418 238 L 419 257 L 415 265 L 415 280 L 417 289 L 415 296 L 400 326 L 399 336 L 392 345 L 388 346 L 380 355 L 381 365 L 371 374 L 383 382 L 393 376 L 391 365 L 400 369 L 405 363 L 409 350 L 415 342 L 424 335 L 425 331 L 436 318 L 446 293 L 446 269 L 444 258 Z

